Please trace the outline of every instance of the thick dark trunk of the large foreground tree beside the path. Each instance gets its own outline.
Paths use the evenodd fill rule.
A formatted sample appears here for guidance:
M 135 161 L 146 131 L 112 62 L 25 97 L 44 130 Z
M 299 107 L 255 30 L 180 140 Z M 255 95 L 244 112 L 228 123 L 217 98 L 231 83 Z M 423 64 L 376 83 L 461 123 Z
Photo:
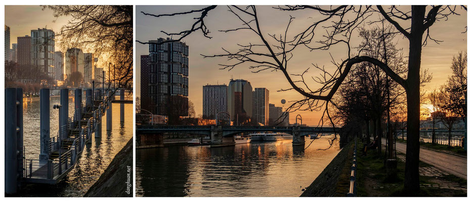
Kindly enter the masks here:
M 420 67 L 421 44 L 425 6 L 411 7 L 411 32 L 408 57 L 407 95 L 407 147 L 405 162 L 404 190 L 410 193 L 419 191 L 419 117 L 420 117 Z

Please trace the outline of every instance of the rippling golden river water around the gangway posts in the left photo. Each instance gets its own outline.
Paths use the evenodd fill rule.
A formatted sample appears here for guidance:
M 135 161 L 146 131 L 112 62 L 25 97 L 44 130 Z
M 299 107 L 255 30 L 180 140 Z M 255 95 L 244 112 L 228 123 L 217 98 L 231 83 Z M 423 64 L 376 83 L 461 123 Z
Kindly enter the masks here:
M 83 100 L 84 101 L 84 100 Z M 51 136 L 59 125 L 59 112 L 53 109 L 60 104 L 59 96 L 51 97 Z M 124 104 L 125 119 L 120 124 L 120 104 L 112 104 L 112 131 L 106 132 L 106 114 L 102 116 L 102 137 L 92 134 L 91 143 L 85 148 L 72 169 L 58 184 L 27 184 L 17 196 L 82 196 L 102 175 L 118 151 L 133 137 L 133 105 Z M 73 116 L 74 98 L 69 98 L 69 117 Z M 23 104 L 24 145 L 27 159 L 39 159 L 39 99 Z M 123 182 L 124 183 L 124 182 Z M 125 184 L 123 184 L 125 186 Z

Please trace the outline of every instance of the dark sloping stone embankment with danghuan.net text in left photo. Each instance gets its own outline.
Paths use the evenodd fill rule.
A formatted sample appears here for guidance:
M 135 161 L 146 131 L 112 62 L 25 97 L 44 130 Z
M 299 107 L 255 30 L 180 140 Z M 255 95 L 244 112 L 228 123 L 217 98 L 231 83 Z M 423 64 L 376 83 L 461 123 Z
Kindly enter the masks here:
M 116 154 L 84 197 L 133 197 L 133 138 Z

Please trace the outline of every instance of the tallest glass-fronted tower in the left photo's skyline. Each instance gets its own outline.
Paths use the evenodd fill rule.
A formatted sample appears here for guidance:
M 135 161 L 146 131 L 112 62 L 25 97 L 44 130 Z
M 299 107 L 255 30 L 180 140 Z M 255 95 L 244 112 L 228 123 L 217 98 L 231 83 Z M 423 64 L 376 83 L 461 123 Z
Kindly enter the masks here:
M 51 78 L 56 76 L 54 68 L 54 31 L 50 29 L 31 30 L 31 66 L 38 68 Z

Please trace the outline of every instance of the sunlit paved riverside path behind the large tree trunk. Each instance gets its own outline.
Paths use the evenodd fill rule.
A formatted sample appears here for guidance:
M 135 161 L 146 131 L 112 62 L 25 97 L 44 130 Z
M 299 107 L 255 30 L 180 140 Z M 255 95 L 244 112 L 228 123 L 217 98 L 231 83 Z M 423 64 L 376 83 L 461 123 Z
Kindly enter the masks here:
M 385 145 L 385 138 L 382 144 Z M 406 154 L 406 144 L 397 142 L 397 151 Z M 430 149 L 419 149 L 419 160 L 457 177 L 467 179 L 467 158 L 448 155 Z

